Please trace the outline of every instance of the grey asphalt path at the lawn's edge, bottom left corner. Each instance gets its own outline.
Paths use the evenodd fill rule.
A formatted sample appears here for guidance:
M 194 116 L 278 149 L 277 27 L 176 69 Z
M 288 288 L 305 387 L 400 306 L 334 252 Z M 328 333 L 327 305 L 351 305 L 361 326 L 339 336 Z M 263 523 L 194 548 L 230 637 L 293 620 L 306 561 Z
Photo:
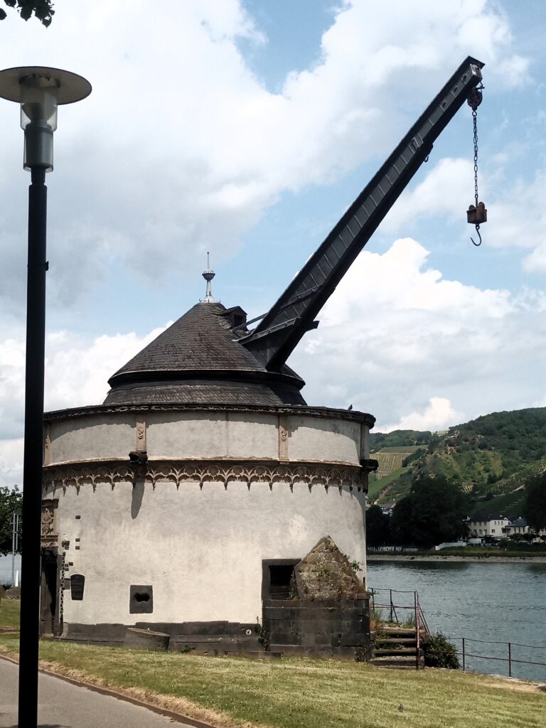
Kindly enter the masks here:
M 0 728 L 17 728 L 19 666 L 0 660 Z M 41 728 L 165 728 L 185 723 L 100 695 L 40 673 L 38 723 Z

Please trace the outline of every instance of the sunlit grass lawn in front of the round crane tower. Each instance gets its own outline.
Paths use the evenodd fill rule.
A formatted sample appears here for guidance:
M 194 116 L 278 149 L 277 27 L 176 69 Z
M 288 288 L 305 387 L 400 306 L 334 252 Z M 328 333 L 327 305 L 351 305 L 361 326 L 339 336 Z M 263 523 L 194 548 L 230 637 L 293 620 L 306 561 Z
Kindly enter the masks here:
M 0 635 L 0 650 L 17 649 L 17 636 Z M 41 659 L 59 672 L 133 695 L 159 694 L 165 707 L 225 727 L 533 728 L 542 727 L 546 710 L 546 693 L 536 687 L 454 670 L 199 657 L 57 641 L 41 643 Z

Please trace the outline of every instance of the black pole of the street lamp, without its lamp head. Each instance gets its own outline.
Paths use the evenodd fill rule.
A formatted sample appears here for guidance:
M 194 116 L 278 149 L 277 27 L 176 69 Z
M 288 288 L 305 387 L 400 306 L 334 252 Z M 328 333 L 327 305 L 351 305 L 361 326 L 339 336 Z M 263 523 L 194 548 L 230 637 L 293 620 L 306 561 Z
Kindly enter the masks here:
M 28 188 L 28 273 L 25 370 L 25 451 L 19 653 L 19 728 L 38 723 L 38 646 L 41 582 L 41 468 L 44 429 L 44 357 L 47 187 L 45 167 L 31 167 Z

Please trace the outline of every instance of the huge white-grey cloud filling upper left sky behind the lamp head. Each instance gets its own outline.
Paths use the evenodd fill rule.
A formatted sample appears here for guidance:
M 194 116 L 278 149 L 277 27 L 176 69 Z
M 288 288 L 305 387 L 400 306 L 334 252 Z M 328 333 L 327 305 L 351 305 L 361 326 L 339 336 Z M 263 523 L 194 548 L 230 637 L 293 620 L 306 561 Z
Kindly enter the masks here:
M 62 266 L 52 301 L 70 303 L 116 257 L 134 274 L 160 277 L 196 251 L 232 256 L 283 190 L 333 181 L 383 154 L 421 108 L 416 94 L 428 100 L 424 90 L 436 92 L 468 52 L 491 64 L 491 79 L 499 59 L 510 66 L 496 83 L 526 74 L 506 17 L 486 0 L 344 1 L 319 62 L 289 74 L 278 93 L 250 71 L 242 38 L 264 42 L 237 0 L 163 0 L 161 9 L 59 0 L 47 31 L 9 25 L 6 65 L 40 57 L 94 86 L 59 114 L 49 218 L 50 256 Z M 1 105 L 2 293 L 19 302 L 13 271 L 24 269 L 25 194 L 12 185 L 16 116 L 14 105 Z

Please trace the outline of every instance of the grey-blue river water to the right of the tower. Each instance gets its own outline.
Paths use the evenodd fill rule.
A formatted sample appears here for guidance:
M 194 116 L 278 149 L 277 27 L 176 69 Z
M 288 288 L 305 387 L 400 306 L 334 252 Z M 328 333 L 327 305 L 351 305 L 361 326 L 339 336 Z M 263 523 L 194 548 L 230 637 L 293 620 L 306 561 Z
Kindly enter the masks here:
M 508 675 L 508 662 L 492 659 L 508 657 L 508 642 L 513 660 L 546 663 L 546 563 L 370 561 L 368 586 L 417 590 L 430 631 L 445 634 L 459 651 L 465 638 L 467 670 Z M 393 594 L 393 601 L 411 605 L 414 597 Z M 379 593 L 376 602 L 387 604 L 389 594 Z M 399 619 L 408 614 L 397 610 Z M 512 675 L 546 682 L 546 665 L 513 662 Z

